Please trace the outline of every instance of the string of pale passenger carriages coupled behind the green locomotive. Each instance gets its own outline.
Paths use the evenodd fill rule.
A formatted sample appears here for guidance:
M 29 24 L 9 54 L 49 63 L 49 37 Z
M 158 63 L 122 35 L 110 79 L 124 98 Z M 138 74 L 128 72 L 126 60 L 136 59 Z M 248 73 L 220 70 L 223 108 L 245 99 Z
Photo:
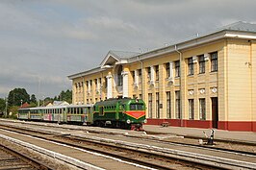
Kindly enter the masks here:
M 18 109 L 19 120 L 48 121 L 59 123 L 91 123 L 92 105 L 50 106 Z

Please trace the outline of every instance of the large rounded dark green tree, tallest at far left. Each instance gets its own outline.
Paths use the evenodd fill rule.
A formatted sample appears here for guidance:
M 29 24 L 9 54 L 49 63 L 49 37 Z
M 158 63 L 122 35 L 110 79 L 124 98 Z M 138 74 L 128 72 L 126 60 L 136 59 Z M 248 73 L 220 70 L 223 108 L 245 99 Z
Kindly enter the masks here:
M 9 92 L 8 95 L 8 106 L 20 106 L 22 103 L 30 102 L 30 95 L 27 93 L 25 88 L 14 88 Z

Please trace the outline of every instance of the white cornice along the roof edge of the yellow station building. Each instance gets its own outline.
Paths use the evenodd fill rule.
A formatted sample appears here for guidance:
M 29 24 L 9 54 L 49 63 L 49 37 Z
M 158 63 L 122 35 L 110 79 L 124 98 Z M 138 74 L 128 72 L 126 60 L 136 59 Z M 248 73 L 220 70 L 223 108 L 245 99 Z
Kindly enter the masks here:
M 70 76 L 67 76 L 69 80 L 73 80 L 75 78 L 80 78 L 83 76 L 88 76 L 90 74 L 95 74 L 100 71 L 104 71 L 108 69 L 109 67 L 111 68 L 111 65 L 105 65 L 106 61 L 110 57 L 115 59 L 115 64 L 125 64 L 125 63 L 132 63 L 136 61 L 143 61 L 155 57 L 159 57 L 162 55 L 166 55 L 169 53 L 176 53 L 176 50 L 183 51 L 187 50 L 189 48 L 192 48 L 194 46 L 199 46 L 202 44 L 206 43 L 211 43 L 215 42 L 220 39 L 225 39 L 225 38 L 239 38 L 239 39 L 248 39 L 248 40 L 254 40 L 256 39 L 256 32 L 253 31 L 244 31 L 244 30 L 230 30 L 230 29 L 221 29 L 216 32 L 208 33 L 206 35 L 202 36 L 196 36 L 188 40 L 184 40 L 178 43 L 174 43 L 172 45 L 163 47 L 163 48 L 158 48 L 146 53 L 142 53 L 139 55 L 135 55 L 129 59 L 121 60 L 118 58 L 118 56 L 115 55 L 112 51 L 109 51 L 107 56 L 104 58 L 104 60 L 100 63 L 99 67 L 90 69 L 88 71 L 84 71 L 81 73 L 73 74 Z

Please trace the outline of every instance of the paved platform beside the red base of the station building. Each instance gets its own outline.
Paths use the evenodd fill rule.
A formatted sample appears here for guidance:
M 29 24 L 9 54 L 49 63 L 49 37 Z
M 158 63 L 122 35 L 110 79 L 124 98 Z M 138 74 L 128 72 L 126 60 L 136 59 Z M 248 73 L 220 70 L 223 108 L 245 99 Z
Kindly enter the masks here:
M 205 134 L 211 135 L 212 129 L 187 128 L 187 127 L 163 127 L 159 125 L 143 125 L 143 129 L 149 133 L 176 134 L 184 137 L 206 138 Z M 256 144 L 256 133 L 253 132 L 234 132 L 234 131 L 215 131 L 215 138 L 243 143 Z M 205 134 L 203 133 L 205 132 Z

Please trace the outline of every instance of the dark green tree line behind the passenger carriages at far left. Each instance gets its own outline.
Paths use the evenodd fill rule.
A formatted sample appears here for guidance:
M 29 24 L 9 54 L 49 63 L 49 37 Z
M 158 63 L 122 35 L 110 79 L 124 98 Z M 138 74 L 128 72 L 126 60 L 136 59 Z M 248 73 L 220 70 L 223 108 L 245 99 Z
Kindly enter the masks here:
M 46 106 L 54 101 L 65 101 L 72 103 L 72 90 L 62 90 L 61 93 L 54 98 L 45 97 L 44 99 L 37 99 L 35 94 L 28 94 L 25 88 L 14 88 L 8 94 L 8 97 L 0 98 L 0 113 L 4 112 L 15 113 L 17 109 L 26 104 L 28 107 Z

